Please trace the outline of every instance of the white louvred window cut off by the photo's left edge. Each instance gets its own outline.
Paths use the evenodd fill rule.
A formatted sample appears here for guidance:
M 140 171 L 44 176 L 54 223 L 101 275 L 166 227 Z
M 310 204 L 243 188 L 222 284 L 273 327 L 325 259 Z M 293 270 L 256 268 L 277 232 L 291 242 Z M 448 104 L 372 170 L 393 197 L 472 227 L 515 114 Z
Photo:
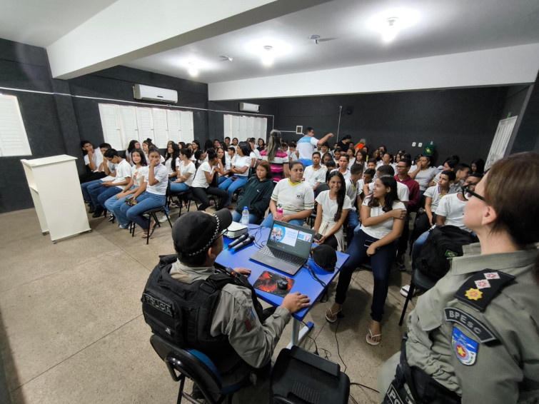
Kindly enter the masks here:
M 0 156 L 31 156 L 16 96 L 0 95 Z

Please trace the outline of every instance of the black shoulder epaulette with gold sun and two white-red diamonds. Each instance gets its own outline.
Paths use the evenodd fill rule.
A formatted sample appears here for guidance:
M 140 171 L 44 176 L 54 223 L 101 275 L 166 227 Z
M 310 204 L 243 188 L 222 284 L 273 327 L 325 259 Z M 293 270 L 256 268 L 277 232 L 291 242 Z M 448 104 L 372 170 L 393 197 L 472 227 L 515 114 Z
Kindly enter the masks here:
M 485 311 L 488 303 L 502 288 L 515 279 L 514 276 L 492 269 L 474 273 L 455 293 L 455 298 L 479 311 Z M 481 289 L 481 290 L 479 290 Z

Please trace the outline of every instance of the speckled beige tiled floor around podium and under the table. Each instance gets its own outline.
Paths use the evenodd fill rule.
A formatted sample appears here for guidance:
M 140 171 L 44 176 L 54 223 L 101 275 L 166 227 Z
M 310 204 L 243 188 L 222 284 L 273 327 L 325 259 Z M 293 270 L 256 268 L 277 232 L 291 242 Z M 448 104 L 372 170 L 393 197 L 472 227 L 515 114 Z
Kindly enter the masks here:
M 173 219 L 177 215 L 172 211 Z M 168 223 L 148 246 L 139 233 L 131 238 L 105 218 L 90 218 L 90 224 L 91 233 L 53 244 L 41 236 L 33 209 L 0 215 L 0 352 L 11 400 L 174 403 L 178 385 L 148 343 L 151 332 L 140 303 L 158 256 L 173 253 Z M 352 382 L 376 388 L 379 368 L 399 349 L 404 332 L 398 327 L 404 303 L 399 289 L 409 280 L 409 271 L 391 273 L 383 340 L 376 347 L 365 341 L 373 289 L 368 271 L 354 274 L 338 323 L 324 319 L 329 303 L 315 303 L 307 315 L 315 324 L 311 338 L 318 352 L 346 368 Z M 413 302 L 408 311 L 412 308 Z M 290 333 L 288 325 L 273 359 Z M 315 350 L 313 339 L 307 338 L 304 348 Z M 357 385 L 351 395 L 357 403 L 379 402 L 376 393 Z M 241 400 L 255 401 L 266 399 Z

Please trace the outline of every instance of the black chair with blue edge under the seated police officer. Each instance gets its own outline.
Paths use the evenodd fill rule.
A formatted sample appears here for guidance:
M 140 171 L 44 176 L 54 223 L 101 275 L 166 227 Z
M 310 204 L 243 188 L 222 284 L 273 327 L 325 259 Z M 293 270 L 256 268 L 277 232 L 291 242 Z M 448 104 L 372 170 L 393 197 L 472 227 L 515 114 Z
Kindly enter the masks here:
M 182 349 L 156 334 L 151 336 L 150 343 L 159 358 L 166 363 L 172 379 L 180 382 L 178 404 L 181 403 L 182 397 L 191 403 L 198 403 L 192 393 L 183 391 L 186 378 L 193 381 L 210 404 L 222 403 L 225 399 L 227 403 L 232 403 L 233 394 L 248 383 L 248 380 L 242 380 L 233 385 L 223 385 L 216 365 L 199 350 Z

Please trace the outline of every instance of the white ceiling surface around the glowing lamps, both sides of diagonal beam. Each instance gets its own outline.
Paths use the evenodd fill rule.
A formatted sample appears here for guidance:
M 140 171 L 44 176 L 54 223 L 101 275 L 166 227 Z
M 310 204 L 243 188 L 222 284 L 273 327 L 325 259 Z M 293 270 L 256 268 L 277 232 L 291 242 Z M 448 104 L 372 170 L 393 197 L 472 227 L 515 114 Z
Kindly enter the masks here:
M 47 47 L 113 3 L 0 0 L 0 37 Z M 368 23 L 376 15 L 393 16 L 396 8 L 415 11 L 419 19 L 384 44 Z M 211 84 L 535 44 L 538 21 L 537 0 L 333 0 L 124 65 Z M 321 36 L 318 45 L 308 39 L 311 34 Z M 249 41 L 261 38 L 268 44 L 286 42 L 290 50 L 276 56 L 272 66 L 263 66 L 246 49 Z M 222 61 L 221 55 L 233 61 Z M 196 77 L 188 73 L 189 60 L 201 64 Z

